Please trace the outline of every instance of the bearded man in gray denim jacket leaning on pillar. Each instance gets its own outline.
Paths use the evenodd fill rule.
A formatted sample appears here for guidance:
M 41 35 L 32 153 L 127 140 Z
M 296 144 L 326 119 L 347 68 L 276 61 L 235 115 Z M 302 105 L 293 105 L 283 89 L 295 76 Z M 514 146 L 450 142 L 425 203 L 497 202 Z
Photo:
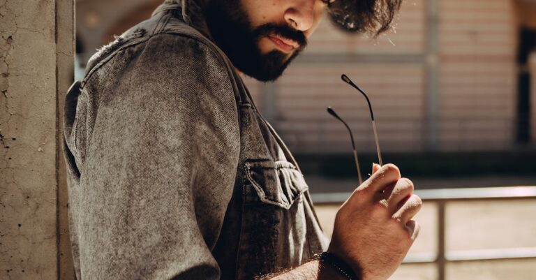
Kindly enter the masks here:
M 419 232 L 412 183 L 373 166 L 328 242 L 237 74 L 278 78 L 327 9 L 385 30 L 399 2 L 376 2 L 168 0 L 95 54 L 64 112 L 77 279 L 387 279 Z

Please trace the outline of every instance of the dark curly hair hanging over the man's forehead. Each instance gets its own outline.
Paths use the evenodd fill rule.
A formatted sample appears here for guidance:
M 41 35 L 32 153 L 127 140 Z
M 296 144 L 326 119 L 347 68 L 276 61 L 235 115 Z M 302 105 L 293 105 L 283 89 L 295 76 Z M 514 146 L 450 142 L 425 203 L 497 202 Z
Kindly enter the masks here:
M 351 33 L 378 36 L 391 27 L 402 0 L 335 0 L 328 14 L 337 27 Z

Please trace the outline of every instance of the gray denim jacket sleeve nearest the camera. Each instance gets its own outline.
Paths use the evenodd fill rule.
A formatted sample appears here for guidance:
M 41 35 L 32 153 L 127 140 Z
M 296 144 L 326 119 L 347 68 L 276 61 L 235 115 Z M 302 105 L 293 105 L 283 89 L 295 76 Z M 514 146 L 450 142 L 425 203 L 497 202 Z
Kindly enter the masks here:
M 160 34 L 122 50 L 91 87 L 103 89 L 71 229 L 82 280 L 219 279 L 211 250 L 239 159 L 223 61 L 196 40 Z

